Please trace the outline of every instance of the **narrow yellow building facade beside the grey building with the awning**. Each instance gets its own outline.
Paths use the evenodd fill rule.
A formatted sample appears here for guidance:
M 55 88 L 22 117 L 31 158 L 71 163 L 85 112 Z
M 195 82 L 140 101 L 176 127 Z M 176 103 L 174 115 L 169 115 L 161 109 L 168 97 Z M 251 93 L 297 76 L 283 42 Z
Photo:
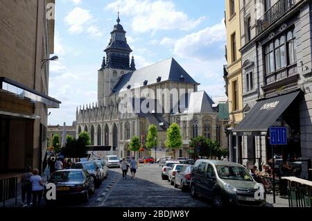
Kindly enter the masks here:
M 232 130 L 243 119 L 243 82 L 241 75 L 241 26 L 239 0 L 225 1 L 225 26 L 227 46 L 225 58 L 225 87 L 229 103 L 229 125 L 227 128 L 229 143 L 229 159 L 237 161 L 241 149 L 241 136 L 235 136 Z

